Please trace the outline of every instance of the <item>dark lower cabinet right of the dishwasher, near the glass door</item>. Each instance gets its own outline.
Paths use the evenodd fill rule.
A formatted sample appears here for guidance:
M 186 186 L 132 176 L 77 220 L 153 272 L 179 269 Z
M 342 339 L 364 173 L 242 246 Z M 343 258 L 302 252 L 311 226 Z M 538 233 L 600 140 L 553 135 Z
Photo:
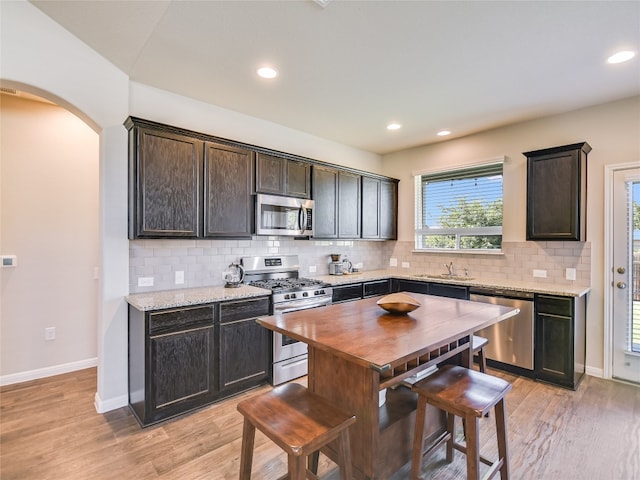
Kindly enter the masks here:
M 537 380 L 576 389 L 585 373 L 586 296 L 535 297 Z

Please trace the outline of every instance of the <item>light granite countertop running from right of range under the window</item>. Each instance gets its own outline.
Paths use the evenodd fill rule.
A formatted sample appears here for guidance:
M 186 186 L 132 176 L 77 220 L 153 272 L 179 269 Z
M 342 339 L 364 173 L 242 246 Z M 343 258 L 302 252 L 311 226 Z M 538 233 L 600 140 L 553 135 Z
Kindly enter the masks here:
M 320 275 L 314 277 L 331 285 L 346 285 L 349 283 L 369 282 L 372 280 L 384 280 L 387 278 L 401 278 L 404 280 L 416 280 L 421 282 L 446 283 L 450 285 L 466 285 L 468 287 L 499 288 L 501 290 L 520 290 L 532 293 L 546 293 L 550 295 L 562 295 L 567 297 L 581 297 L 586 295 L 591 287 L 581 285 L 556 285 L 542 282 L 526 282 L 511 279 L 494 279 L 472 277 L 472 280 L 455 278 L 432 278 L 425 276 L 423 272 L 411 270 L 402 271 L 400 269 L 383 269 L 358 272 L 344 275 Z

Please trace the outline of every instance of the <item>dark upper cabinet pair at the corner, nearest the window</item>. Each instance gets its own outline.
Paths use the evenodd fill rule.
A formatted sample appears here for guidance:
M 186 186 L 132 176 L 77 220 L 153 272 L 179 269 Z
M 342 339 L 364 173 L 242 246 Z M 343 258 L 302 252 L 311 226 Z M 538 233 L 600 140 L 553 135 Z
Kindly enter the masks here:
M 362 177 L 362 238 L 397 238 L 398 184 Z

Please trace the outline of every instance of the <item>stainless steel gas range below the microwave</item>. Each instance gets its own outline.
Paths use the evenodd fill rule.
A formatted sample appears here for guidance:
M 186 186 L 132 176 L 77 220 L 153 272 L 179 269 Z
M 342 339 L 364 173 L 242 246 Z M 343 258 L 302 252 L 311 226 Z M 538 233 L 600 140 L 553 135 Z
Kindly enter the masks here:
M 325 282 L 298 276 L 298 255 L 243 257 L 245 283 L 271 290 L 272 313 L 331 304 L 333 289 Z M 273 333 L 273 385 L 306 375 L 307 344 L 280 333 Z

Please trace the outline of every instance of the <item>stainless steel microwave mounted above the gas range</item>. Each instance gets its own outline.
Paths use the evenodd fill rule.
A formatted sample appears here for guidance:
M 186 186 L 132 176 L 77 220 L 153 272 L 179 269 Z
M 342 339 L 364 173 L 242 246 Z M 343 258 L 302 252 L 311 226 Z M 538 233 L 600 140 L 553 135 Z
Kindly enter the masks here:
M 313 236 L 313 200 L 258 194 L 256 234 Z

